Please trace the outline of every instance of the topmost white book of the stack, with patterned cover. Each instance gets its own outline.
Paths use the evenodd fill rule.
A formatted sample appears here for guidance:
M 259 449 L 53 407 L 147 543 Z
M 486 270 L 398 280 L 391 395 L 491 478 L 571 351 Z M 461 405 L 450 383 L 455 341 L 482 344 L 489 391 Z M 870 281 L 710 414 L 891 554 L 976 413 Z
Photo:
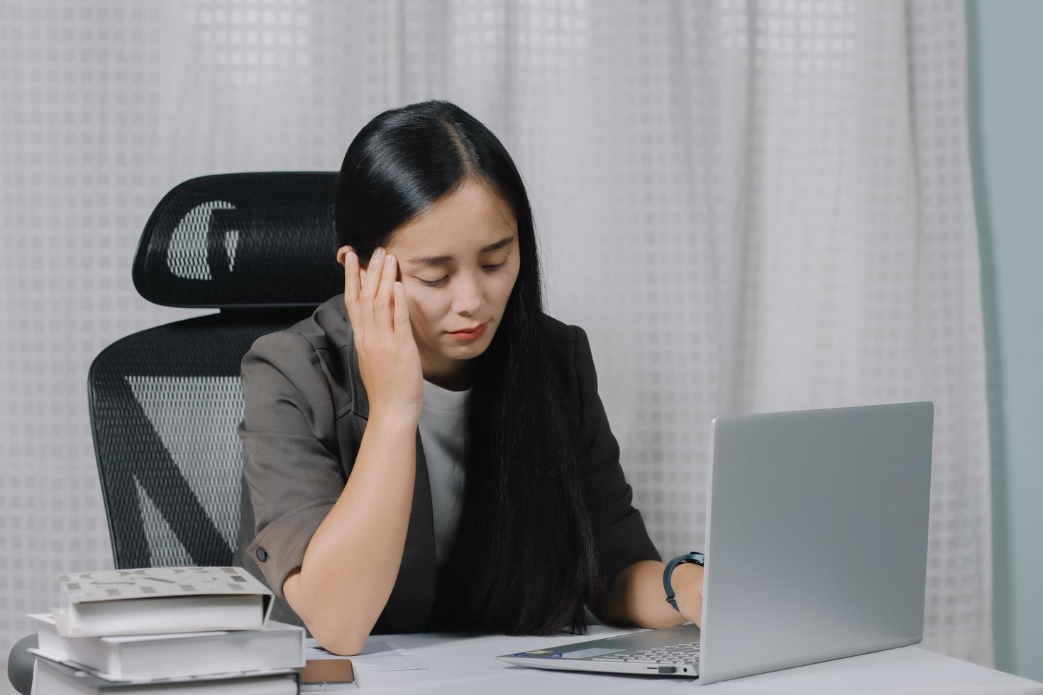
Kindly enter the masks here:
M 261 629 L 272 593 L 241 567 L 146 567 L 58 576 L 62 637 Z

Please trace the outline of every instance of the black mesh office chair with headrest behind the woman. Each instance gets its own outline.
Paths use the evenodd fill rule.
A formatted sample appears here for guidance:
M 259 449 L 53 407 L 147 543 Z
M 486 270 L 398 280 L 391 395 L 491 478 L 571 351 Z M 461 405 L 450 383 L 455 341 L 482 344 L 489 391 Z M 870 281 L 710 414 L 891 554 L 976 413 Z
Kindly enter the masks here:
M 259 337 L 343 291 L 335 176 L 201 176 L 164 196 L 146 223 L 138 293 L 220 312 L 122 338 L 91 364 L 91 435 L 117 569 L 232 565 L 245 494 L 240 361 Z M 32 646 L 35 635 L 20 640 L 7 664 L 24 694 Z

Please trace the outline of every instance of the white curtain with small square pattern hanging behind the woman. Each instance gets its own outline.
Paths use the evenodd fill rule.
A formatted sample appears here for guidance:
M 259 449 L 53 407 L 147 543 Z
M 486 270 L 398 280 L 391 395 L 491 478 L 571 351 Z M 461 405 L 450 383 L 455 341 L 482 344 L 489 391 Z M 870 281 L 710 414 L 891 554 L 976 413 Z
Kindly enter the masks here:
M 444 98 L 522 171 L 662 554 L 703 546 L 713 417 L 933 400 L 924 645 L 991 665 L 965 92 L 960 0 L 4 0 L 0 652 L 112 567 L 90 362 L 208 313 L 134 290 L 160 198 Z

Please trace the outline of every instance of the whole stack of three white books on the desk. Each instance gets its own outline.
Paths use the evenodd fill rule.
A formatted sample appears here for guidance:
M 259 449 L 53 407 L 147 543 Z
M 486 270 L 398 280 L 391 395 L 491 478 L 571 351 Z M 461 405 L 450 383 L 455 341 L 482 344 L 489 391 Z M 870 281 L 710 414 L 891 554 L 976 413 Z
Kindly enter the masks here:
M 272 594 L 239 567 L 64 574 L 30 614 L 33 695 L 296 695 L 305 630 L 269 620 Z

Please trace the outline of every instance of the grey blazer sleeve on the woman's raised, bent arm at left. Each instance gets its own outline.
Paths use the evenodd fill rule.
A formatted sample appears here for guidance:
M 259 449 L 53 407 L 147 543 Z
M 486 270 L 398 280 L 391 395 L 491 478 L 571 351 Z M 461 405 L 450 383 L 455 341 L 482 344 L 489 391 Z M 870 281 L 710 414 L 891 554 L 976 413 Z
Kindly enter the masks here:
M 304 336 L 277 331 L 253 342 L 241 362 L 243 476 L 253 505 L 246 549 L 269 589 L 283 582 L 344 489 L 333 399 L 318 355 Z

